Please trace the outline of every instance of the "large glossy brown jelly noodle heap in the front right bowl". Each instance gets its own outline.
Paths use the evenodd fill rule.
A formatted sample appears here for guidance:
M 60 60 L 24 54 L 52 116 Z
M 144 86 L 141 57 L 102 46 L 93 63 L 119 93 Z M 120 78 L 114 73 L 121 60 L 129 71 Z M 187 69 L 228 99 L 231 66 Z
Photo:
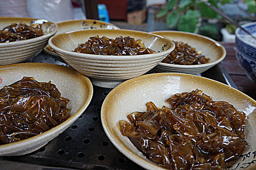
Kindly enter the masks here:
M 224 170 L 247 146 L 246 115 L 228 102 L 216 102 L 201 90 L 177 93 L 170 108 L 146 104 L 146 112 L 120 120 L 123 136 L 160 166 L 172 170 Z

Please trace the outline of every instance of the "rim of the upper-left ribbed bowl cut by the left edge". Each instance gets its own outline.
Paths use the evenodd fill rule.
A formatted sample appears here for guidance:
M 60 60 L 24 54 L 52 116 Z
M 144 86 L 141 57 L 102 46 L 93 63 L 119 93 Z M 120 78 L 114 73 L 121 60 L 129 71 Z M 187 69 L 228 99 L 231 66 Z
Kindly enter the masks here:
M 4 47 L 14 47 L 14 46 L 19 46 L 19 45 L 23 45 L 23 44 L 29 44 L 29 43 L 33 43 L 33 42 L 37 42 L 39 40 L 43 40 L 43 39 L 47 39 L 51 36 L 53 36 L 54 34 L 57 33 L 59 27 L 56 23 L 49 21 L 47 19 L 40 19 L 40 18 L 32 18 L 32 17 L 0 17 L 0 21 L 1 19 L 17 19 L 20 20 L 20 22 L 22 22 L 22 19 L 31 19 L 31 20 L 45 20 L 47 22 L 49 22 L 50 24 L 54 25 L 54 30 L 49 32 L 48 34 L 44 34 L 42 36 L 38 36 L 35 38 L 31 38 L 31 39 L 26 39 L 26 40 L 20 40 L 20 41 L 13 41 L 13 42 L 8 42 L 8 43 L 0 43 L 0 48 L 4 48 Z

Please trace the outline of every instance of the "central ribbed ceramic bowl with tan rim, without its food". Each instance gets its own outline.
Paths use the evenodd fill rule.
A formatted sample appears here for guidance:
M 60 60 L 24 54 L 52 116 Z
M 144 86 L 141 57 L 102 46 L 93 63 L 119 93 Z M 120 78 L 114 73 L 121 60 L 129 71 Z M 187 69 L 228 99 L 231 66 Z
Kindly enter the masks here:
M 98 35 L 116 38 L 130 36 L 141 39 L 145 46 L 157 51 L 154 54 L 133 56 L 95 55 L 73 52 L 80 43 L 89 37 Z M 84 30 L 55 35 L 49 45 L 71 67 L 90 76 L 92 83 L 101 87 L 115 87 L 126 79 L 140 76 L 154 68 L 168 53 L 173 51 L 175 44 L 159 35 L 132 30 Z

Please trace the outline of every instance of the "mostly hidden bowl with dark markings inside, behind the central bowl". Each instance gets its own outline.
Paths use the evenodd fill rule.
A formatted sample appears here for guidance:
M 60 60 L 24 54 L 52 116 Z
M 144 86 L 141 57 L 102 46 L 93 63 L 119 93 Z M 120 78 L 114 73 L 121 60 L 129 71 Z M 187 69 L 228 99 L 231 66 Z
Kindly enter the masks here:
M 94 20 L 94 19 L 67 20 L 67 21 L 57 22 L 57 25 L 59 27 L 59 30 L 56 34 L 62 34 L 62 33 L 71 32 L 71 31 L 92 30 L 92 29 L 114 29 L 114 30 L 119 29 L 117 26 L 111 23 Z M 53 56 L 59 56 L 56 52 L 53 51 L 53 49 L 49 45 L 45 46 L 43 50 Z

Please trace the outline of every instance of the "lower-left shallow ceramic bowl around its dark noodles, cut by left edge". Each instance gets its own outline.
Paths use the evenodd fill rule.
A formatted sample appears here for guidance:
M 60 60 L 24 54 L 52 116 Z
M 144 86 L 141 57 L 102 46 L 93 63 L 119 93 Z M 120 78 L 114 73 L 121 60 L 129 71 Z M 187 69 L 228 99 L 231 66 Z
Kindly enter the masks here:
M 0 67 L 0 89 L 24 76 L 34 77 L 39 82 L 51 81 L 61 96 L 68 98 L 70 118 L 58 126 L 19 142 L 0 145 L 0 156 L 22 155 L 36 151 L 67 129 L 84 112 L 93 95 L 90 80 L 78 71 L 60 65 L 46 63 L 21 63 Z

